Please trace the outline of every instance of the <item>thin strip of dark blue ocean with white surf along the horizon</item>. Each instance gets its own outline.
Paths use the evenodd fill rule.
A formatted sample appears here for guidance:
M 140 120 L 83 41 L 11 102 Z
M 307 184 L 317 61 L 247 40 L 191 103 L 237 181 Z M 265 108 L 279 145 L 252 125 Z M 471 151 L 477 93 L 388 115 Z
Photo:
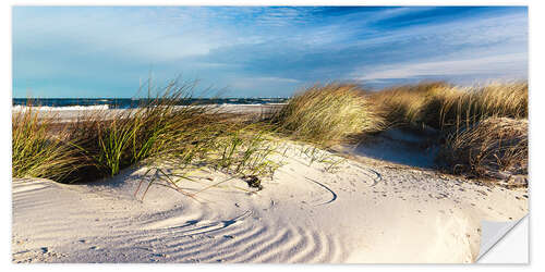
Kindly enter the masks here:
M 287 98 L 193 98 L 180 100 L 178 104 L 275 104 L 284 103 Z M 13 98 L 13 108 L 28 104 L 35 107 L 81 109 L 134 109 L 148 102 L 148 99 L 131 98 Z

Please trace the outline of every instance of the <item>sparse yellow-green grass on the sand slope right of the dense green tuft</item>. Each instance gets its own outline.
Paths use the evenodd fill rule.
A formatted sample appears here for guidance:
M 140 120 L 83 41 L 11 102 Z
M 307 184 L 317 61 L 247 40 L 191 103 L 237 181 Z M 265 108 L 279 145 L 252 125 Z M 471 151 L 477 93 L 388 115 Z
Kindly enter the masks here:
M 218 129 L 219 127 L 221 128 Z M 149 178 L 149 183 L 142 198 L 145 197 L 149 186 L 159 181 L 197 201 L 197 194 L 213 187 L 220 187 L 223 183 L 234 178 L 246 181 L 250 187 L 262 189 L 262 178 L 272 177 L 276 170 L 282 165 L 281 162 L 272 159 L 280 154 L 278 140 L 268 131 L 259 129 L 253 124 L 223 123 L 221 126 L 216 126 L 208 136 L 208 140 L 201 139 L 192 143 L 191 148 L 170 148 L 169 152 L 164 152 L 148 161 L 148 170 L 144 175 Z M 166 165 L 169 169 L 168 172 L 164 170 Z M 203 184 L 206 186 L 196 193 L 185 191 L 179 186 L 182 182 L 198 183 L 193 174 L 206 169 L 220 171 L 230 177 L 213 184 Z M 240 186 L 233 185 L 232 187 L 252 193 Z

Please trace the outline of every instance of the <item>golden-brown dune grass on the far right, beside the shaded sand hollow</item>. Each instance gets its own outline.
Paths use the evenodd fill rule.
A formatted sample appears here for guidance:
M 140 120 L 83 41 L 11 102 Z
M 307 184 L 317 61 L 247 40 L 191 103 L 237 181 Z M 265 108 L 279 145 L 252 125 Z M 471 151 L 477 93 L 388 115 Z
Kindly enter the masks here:
M 404 85 L 370 96 L 389 126 L 439 132 L 437 160 L 451 173 L 528 174 L 528 83 Z M 436 139 L 436 140 L 438 140 Z

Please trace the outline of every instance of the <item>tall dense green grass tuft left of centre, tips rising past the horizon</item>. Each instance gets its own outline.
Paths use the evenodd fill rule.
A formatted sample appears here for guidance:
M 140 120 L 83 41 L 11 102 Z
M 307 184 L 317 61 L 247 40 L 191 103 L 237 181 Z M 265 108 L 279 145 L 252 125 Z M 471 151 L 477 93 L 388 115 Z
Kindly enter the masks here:
M 71 129 L 81 143 L 82 157 L 94 162 L 97 173 L 116 175 L 161 152 L 190 148 L 184 143 L 206 139 L 202 134 L 207 132 L 213 114 L 206 107 L 190 104 L 193 86 L 171 82 L 136 109 L 84 114 Z

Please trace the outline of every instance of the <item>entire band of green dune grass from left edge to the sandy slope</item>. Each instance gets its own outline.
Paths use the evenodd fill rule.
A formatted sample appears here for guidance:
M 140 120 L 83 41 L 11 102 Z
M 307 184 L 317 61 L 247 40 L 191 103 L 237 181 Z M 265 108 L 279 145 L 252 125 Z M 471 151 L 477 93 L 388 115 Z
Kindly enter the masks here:
M 233 122 L 213 106 L 192 104 L 194 88 L 173 81 L 136 109 L 89 111 L 63 125 L 62 140 L 50 129 L 60 120 L 39 120 L 31 106 L 13 119 L 13 176 L 94 181 L 156 160 L 240 176 L 270 174 L 277 165 L 267 159 L 275 150 L 267 131 Z

